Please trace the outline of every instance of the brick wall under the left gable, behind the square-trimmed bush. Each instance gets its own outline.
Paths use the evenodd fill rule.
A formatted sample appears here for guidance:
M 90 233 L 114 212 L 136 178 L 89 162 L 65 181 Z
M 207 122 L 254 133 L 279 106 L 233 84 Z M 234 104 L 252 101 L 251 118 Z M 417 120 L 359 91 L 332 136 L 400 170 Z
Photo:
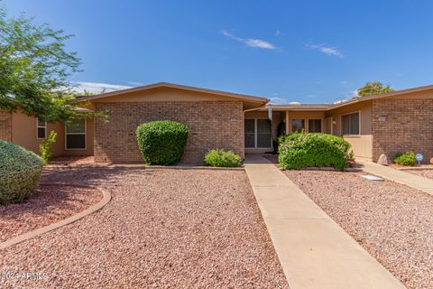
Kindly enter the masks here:
M 95 121 L 95 161 L 143 162 L 135 130 L 152 120 L 174 120 L 189 126 L 182 163 L 202 163 L 213 148 L 244 156 L 244 116 L 241 101 L 96 102 L 110 120 Z

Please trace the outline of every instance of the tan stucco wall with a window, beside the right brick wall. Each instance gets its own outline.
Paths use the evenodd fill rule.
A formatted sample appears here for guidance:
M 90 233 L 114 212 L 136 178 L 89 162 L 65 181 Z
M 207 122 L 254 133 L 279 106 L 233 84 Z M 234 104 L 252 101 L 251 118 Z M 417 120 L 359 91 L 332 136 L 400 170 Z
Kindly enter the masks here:
M 352 112 L 360 112 L 361 132 L 359 136 L 343 136 L 342 116 Z M 373 132 L 372 132 L 372 101 L 367 100 L 346 107 L 339 107 L 327 112 L 327 117 L 333 117 L 333 135 L 343 136 L 352 144 L 355 156 L 371 159 L 373 156 Z

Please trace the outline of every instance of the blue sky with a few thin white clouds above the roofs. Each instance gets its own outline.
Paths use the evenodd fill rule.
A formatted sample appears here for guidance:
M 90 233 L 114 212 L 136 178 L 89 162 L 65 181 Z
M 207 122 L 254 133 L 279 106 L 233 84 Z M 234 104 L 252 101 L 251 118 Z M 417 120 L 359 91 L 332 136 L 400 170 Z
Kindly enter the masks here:
M 88 89 L 159 81 L 272 98 L 350 98 L 367 80 L 433 84 L 433 1 L 4 0 L 75 34 Z

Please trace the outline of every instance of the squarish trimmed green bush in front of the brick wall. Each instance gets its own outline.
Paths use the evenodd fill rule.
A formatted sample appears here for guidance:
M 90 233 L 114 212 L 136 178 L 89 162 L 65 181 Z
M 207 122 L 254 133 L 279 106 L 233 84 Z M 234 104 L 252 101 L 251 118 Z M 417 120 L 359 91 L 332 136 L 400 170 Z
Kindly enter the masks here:
M 137 142 L 145 163 L 174 164 L 180 161 L 188 139 L 188 126 L 171 120 L 137 127 Z

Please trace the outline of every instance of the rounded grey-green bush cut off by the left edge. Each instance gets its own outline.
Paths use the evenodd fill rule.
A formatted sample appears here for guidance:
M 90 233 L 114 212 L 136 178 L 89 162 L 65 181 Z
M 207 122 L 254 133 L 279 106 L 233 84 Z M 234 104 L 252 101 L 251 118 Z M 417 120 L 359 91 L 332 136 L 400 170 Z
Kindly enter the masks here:
M 41 176 L 42 159 L 23 147 L 0 140 L 0 203 L 32 195 Z

